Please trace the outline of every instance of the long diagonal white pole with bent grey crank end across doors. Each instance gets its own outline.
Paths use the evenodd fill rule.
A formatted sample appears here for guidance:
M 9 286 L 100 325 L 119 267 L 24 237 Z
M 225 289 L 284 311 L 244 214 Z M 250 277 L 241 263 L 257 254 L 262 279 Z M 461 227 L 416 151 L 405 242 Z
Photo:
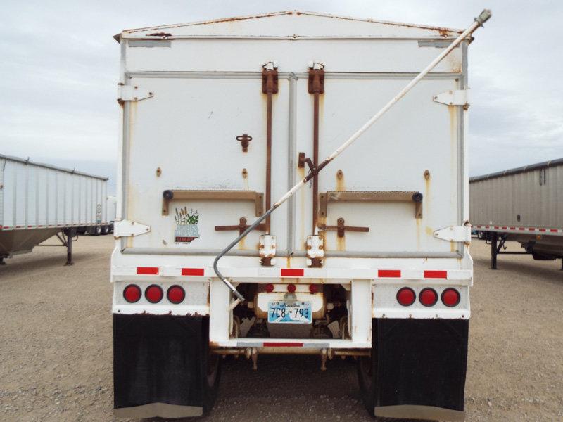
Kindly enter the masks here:
M 362 127 L 360 127 L 360 129 L 358 129 L 358 131 L 356 131 L 352 136 L 350 136 L 350 138 L 348 138 L 348 140 L 346 142 L 344 142 L 341 146 L 339 146 L 339 148 L 337 148 L 336 151 L 334 151 L 334 153 L 331 153 L 331 155 L 329 155 L 323 162 L 321 162 L 320 165 L 318 165 L 316 168 L 313 168 L 311 170 L 311 172 L 303 180 L 299 181 L 298 184 L 296 184 L 295 186 L 293 186 L 293 188 L 291 188 L 289 191 L 287 191 L 284 196 L 279 198 L 279 200 L 277 200 L 277 203 L 274 203 L 274 205 L 272 205 L 270 210 L 267 210 L 264 213 L 264 215 L 262 215 L 262 217 L 259 217 L 255 222 L 253 222 L 253 224 L 248 226 L 248 229 L 243 231 L 243 233 L 239 237 L 237 237 L 236 239 L 234 239 L 234 241 L 229 243 L 229 245 L 227 245 L 227 247 L 224 248 L 217 255 L 217 257 L 215 257 L 215 261 L 213 261 L 213 269 L 215 270 L 215 274 L 217 274 L 217 276 L 223 281 L 223 283 L 225 283 L 227 285 L 227 287 L 232 291 L 232 293 L 236 296 L 236 300 L 230 305 L 231 308 L 236 307 L 236 305 L 238 305 L 239 302 L 244 300 L 244 297 L 243 297 L 243 295 L 241 295 L 241 293 L 238 290 L 236 290 L 236 288 L 234 288 L 234 286 L 230 283 L 230 281 L 227 280 L 221 274 L 221 272 L 217 268 L 217 262 L 219 262 L 219 260 L 225 254 L 227 254 L 227 252 L 229 252 L 229 250 L 234 248 L 234 246 L 237 243 L 239 243 L 239 241 L 241 241 L 243 238 L 245 238 L 247 234 L 249 234 L 251 231 L 253 231 L 253 229 L 255 229 L 255 227 L 258 226 L 258 224 L 260 224 L 267 217 L 270 217 L 270 214 L 272 214 L 272 212 L 274 212 L 274 210 L 277 207 L 279 207 L 279 205 L 283 204 L 286 200 L 291 198 L 291 196 L 293 196 L 294 193 L 296 193 L 299 189 L 301 189 L 303 186 L 305 186 L 305 184 L 307 184 L 307 182 L 310 181 L 310 179 L 312 179 L 317 174 L 319 174 L 319 172 L 324 167 L 327 167 L 329 162 L 334 160 L 334 158 L 338 157 L 346 148 L 348 148 L 348 146 L 350 146 L 356 139 L 358 139 L 360 136 L 362 136 L 362 134 L 365 131 L 367 131 L 367 129 L 369 129 L 369 127 L 371 127 L 372 124 L 374 124 L 375 122 L 377 122 L 377 120 L 379 120 L 379 117 L 384 115 L 401 98 L 403 98 L 403 96 L 405 96 L 407 94 L 407 92 L 412 89 L 412 87 L 414 87 L 418 82 L 420 82 L 420 79 L 425 77 L 432 69 L 434 69 L 436 67 L 436 65 L 438 65 L 438 63 L 440 63 L 443 60 L 443 58 L 445 58 L 445 56 L 448 56 L 448 54 L 453 49 L 455 49 L 456 46 L 458 46 L 464 39 L 466 39 L 471 34 L 473 34 L 473 32 L 475 32 L 475 30 L 477 28 L 483 26 L 483 23 L 485 23 L 489 18 L 491 18 L 491 11 L 488 10 L 488 9 L 483 10 L 481 12 L 481 14 L 475 18 L 474 23 L 472 23 L 472 25 L 469 25 L 467 30 L 464 30 L 464 32 L 462 32 L 460 34 L 460 36 L 457 37 L 452 42 L 452 44 L 450 44 L 444 51 L 442 51 L 438 55 L 438 57 L 436 57 L 434 60 L 432 60 L 432 62 L 429 65 L 427 65 L 426 68 L 424 68 L 424 70 L 422 70 L 422 72 L 420 72 L 414 79 L 412 79 L 412 81 L 410 81 L 407 84 L 406 87 L 404 87 L 396 96 L 391 98 L 391 100 L 388 103 L 386 103 L 386 105 L 383 108 L 381 108 L 381 110 L 379 110 L 371 119 L 369 119 L 367 122 L 365 122 L 365 124 Z

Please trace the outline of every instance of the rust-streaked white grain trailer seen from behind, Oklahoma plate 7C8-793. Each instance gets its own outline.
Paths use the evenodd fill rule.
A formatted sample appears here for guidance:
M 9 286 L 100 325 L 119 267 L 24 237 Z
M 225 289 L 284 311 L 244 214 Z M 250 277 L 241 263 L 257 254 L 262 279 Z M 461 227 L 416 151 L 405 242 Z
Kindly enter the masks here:
M 487 16 L 293 11 L 115 37 L 116 415 L 201 415 L 221 356 L 317 354 L 358 358 L 371 414 L 464 418 L 467 49 Z

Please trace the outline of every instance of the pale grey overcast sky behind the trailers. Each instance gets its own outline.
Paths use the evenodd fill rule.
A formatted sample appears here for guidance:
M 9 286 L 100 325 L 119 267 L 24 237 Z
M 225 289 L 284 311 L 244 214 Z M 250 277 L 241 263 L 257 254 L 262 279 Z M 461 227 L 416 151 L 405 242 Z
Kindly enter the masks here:
M 563 1 L 22 1 L 0 18 L 0 153 L 110 176 L 115 191 L 120 30 L 301 9 L 464 28 L 470 174 L 563 157 Z

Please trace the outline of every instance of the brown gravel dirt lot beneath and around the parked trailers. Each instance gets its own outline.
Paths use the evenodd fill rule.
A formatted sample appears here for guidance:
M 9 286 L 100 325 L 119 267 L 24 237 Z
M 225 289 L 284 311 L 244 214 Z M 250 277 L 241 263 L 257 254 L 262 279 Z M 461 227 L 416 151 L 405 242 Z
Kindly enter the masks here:
M 75 265 L 36 248 L 0 267 L 0 420 L 113 421 L 110 236 L 82 236 Z M 511 248 L 517 250 L 516 245 Z M 474 241 L 467 421 L 563 420 L 560 262 L 499 257 Z M 220 399 L 201 421 L 373 421 L 353 362 L 315 357 L 223 366 Z

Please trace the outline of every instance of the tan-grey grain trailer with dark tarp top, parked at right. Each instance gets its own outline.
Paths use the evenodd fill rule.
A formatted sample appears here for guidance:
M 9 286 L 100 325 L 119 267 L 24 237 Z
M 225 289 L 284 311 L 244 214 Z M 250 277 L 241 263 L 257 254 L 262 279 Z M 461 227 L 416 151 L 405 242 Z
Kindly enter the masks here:
M 502 254 L 562 258 L 563 269 L 563 158 L 472 177 L 469 217 L 479 238 L 491 242 L 492 269 Z M 507 241 L 524 251 L 504 251 Z

